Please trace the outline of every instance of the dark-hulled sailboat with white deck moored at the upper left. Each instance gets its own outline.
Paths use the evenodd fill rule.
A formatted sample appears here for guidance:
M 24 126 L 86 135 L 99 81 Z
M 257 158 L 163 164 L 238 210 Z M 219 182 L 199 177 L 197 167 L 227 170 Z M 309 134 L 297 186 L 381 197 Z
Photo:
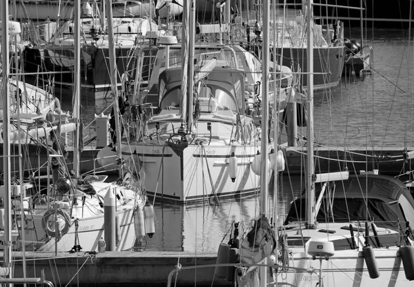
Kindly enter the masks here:
M 101 2 L 103 3 L 103 2 Z M 120 2 L 118 4 L 121 4 Z M 123 2 L 122 5 L 126 4 Z M 109 52 L 107 21 L 103 4 L 96 1 L 82 1 L 81 27 L 81 79 L 87 97 L 106 99 L 111 95 L 108 72 Z M 57 12 L 59 13 L 59 12 Z M 70 19 L 70 17 L 68 17 Z M 116 34 L 117 77 L 132 65 L 132 55 L 136 46 L 149 43 L 148 34 L 156 32 L 158 26 L 152 17 L 118 16 L 112 19 Z M 73 86 L 74 68 L 74 22 L 64 21 L 55 28 L 46 43 L 34 43 L 25 48 L 25 65 L 32 72 L 42 70 L 55 74 L 55 84 L 61 88 Z M 120 85 L 119 85 L 120 86 Z

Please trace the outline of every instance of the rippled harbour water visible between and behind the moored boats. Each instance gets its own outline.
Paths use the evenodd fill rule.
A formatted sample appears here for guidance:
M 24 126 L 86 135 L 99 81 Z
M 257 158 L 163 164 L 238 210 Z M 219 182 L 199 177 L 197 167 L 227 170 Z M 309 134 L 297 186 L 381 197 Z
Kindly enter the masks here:
M 363 78 L 343 77 L 342 83 L 329 91 L 315 93 L 315 141 L 339 148 L 408 148 L 413 144 L 413 49 L 408 45 L 407 30 L 372 30 L 364 43 L 373 47 L 372 75 Z M 346 32 L 355 39 L 358 30 Z M 94 114 L 105 112 L 110 101 L 83 99 L 83 122 L 87 126 Z M 70 99 L 62 99 L 63 110 L 72 109 Z M 306 137 L 306 130 L 302 130 Z M 87 137 L 88 131 L 84 133 Z M 90 128 L 90 136 L 95 129 Z M 88 138 L 86 138 L 87 140 Z M 283 220 L 290 201 L 304 186 L 288 175 L 280 178 L 279 221 Z M 269 210 L 273 194 L 270 192 Z M 197 251 L 216 253 L 232 221 L 248 226 L 257 216 L 258 197 L 231 199 L 217 204 L 171 206 L 155 204 L 156 229 L 147 238 L 146 250 Z M 225 240 L 228 240 L 226 237 Z

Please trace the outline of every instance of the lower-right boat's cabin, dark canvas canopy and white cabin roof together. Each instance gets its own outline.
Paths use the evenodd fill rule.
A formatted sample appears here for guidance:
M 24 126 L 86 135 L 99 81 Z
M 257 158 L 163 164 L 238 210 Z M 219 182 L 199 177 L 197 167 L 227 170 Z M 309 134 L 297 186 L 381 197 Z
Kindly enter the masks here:
M 318 195 L 317 195 L 318 196 Z M 310 239 L 332 241 L 335 250 L 402 246 L 413 241 L 414 199 L 402 181 L 385 175 L 354 175 L 329 184 L 316 226 L 306 221 L 306 199 L 293 201 L 282 227 L 289 246 Z

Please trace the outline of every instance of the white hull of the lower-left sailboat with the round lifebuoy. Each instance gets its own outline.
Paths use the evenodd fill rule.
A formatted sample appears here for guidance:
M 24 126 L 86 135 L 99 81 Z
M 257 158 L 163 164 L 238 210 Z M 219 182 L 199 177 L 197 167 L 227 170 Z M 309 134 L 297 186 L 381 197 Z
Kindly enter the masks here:
M 140 192 L 135 192 L 130 186 L 91 182 L 95 194 L 83 194 L 77 190 L 77 199 L 64 195 L 63 200 L 50 200 L 50 207 L 44 199 L 37 202 L 36 198 L 23 196 L 24 208 L 24 237 L 21 230 L 20 199 L 12 202 L 14 210 L 14 228 L 12 229 L 12 248 L 21 251 L 23 244 L 27 251 L 37 252 L 68 252 L 80 246 L 83 251 L 97 251 L 98 241 L 105 237 L 105 212 L 107 192 L 114 192 L 116 219 L 116 246 L 113 251 L 131 250 L 135 244 L 135 208 L 144 208 L 146 201 Z M 136 181 L 130 181 L 135 186 Z M 112 189 L 108 191 L 108 188 Z M 72 194 L 71 192 L 68 192 Z M 1 197 L 0 188 L 0 197 Z M 85 199 L 82 199 L 85 196 Z M 41 195 L 39 195 L 41 197 Z M 84 204 L 83 204 L 84 201 Z M 53 208 L 52 208 L 52 203 Z M 58 203 L 58 204 L 57 204 Z M 34 206 L 34 208 L 32 207 Z M 57 208 L 58 206 L 58 208 Z M 0 208 L 0 215 L 4 209 Z M 56 222 L 59 224 L 56 236 Z M 0 227 L 4 223 L 0 221 Z M 108 235 L 109 236 L 109 235 Z M 0 231 L 0 249 L 4 248 L 4 233 Z

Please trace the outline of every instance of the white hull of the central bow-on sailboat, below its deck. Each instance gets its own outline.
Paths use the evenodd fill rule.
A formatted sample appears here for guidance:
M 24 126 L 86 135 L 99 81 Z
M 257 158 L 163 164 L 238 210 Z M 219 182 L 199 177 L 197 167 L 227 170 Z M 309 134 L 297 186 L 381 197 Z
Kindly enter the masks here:
M 188 203 L 251 195 L 259 190 L 259 176 L 250 168 L 259 146 L 191 144 L 181 157 L 164 145 L 143 144 L 135 150 L 147 175 L 146 192 L 160 200 Z M 232 152 L 238 158 L 235 182 L 229 175 Z M 123 150 L 123 157 L 128 157 L 128 152 Z

